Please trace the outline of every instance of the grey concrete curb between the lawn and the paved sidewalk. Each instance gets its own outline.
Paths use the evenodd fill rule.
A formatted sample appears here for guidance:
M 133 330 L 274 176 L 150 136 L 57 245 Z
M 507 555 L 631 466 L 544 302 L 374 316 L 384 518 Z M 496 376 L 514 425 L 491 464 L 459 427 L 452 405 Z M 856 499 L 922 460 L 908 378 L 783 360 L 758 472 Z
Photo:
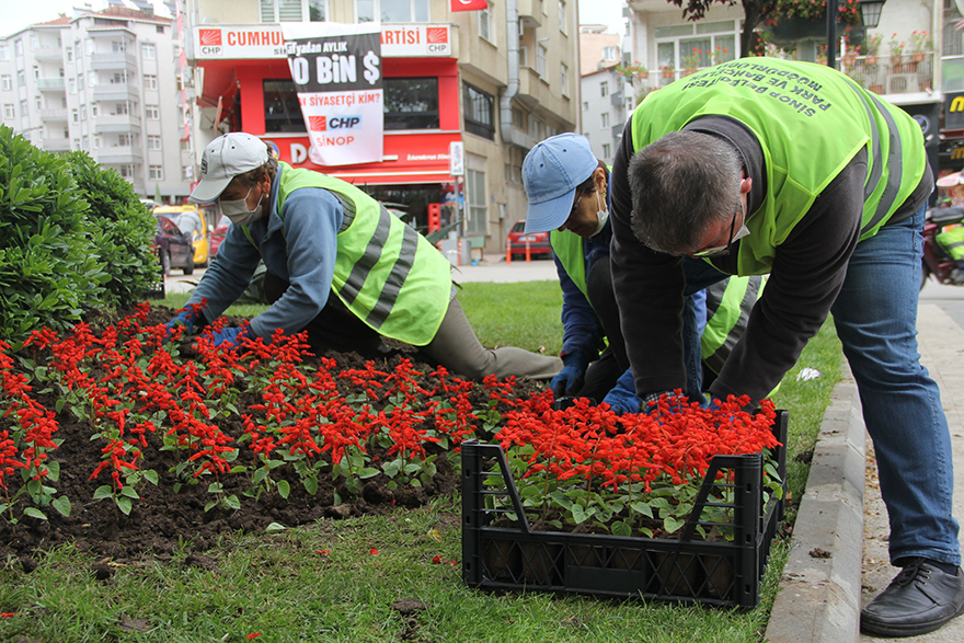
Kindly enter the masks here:
M 820 424 L 766 641 L 859 639 L 864 461 L 860 401 L 848 377 Z

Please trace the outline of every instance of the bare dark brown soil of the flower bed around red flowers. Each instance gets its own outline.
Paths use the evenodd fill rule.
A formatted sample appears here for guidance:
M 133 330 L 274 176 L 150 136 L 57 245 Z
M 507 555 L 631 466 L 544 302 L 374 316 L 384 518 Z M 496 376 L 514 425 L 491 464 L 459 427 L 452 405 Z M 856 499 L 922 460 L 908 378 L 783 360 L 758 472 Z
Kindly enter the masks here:
M 119 315 L 125 315 L 122 311 Z M 163 323 L 173 318 L 174 312 L 163 307 L 154 307 L 149 324 Z M 94 329 L 105 328 L 112 319 L 99 315 L 88 320 Z M 236 322 L 239 320 L 234 320 Z M 338 368 L 362 368 L 367 360 L 357 353 L 325 353 L 334 358 Z M 380 357 L 382 370 L 391 370 L 402 358 L 415 361 L 416 370 L 431 372 L 435 366 L 420 361 L 420 354 L 410 346 L 394 345 L 390 353 Z M 536 382 L 523 383 L 517 391 L 525 395 L 529 391 L 541 388 Z M 41 400 L 47 409 L 54 409 L 54 400 Z M 60 463 L 60 480 L 53 483 L 57 496 L 67 495 L 72 503 L 69 517 L 59 515 L 48 507 L 48 520 L 23 517 L 18 525 L 0 520 L 0 560 L 19 558 L 24 565 L 32 564 L 32 556 L 38 551 L 47 550 L 64 543 L 73 543 L 78 549 L 97 558 L 110 558 L 125 561 L 145 555 L 170 554 L 184 542 L 190 542 L 193 551 L 204 552 L 213 547 L 218 537 L 229 532 L 263 532 L 272 523 L 285 527 L 294 527 L 312 523 L 320 518 L 346 518 L 366 514 L 382 514 L 399 507 L 417 507 L 436 496 L 446 496 L 457 490 L 459 479 L 454 472 L 447 453 L 439 453 L 436 460 L 438 474 L 431 484 L 422 487 L 400 487 L 389 491 L 386 487 L 388 478 L 383 474 L 366 481 L 360 495 L 351 496 L 344 486 L 337 487 L 331 476 L 319 476 L 319 490 L 310 495 L 297 476 L 288 478 L 290 495 L 287 500 L 277 494 L 262 495 L 255 501 L 242 495 L 250 485 L 243 475 L 226 475 L 221 479 L 227 494 L 237 494 L 241 500 L 241 508 L 226 510 L 213 508 L 205 512 L 205 505 L 211 500 L 207 493 L 208 482 L 183 485 L 174 493 L 176 482 L 168 469 L 183 458 L 181 453 L 157 450 L 153 470 L 159 475 L 157 486 L 142 483 L 139 487 L 142 498 L 134 503 L 130 515 L 125 516 L 114 503 L 107 500 L 94 501 L 94 491 L 108 482 L 106 475 L 99 480 L 89 480 L 90 473 L 101 461 L 96 441 L 90 441 L 91 428 L 78 424 L 72 416 L 60 413 L 57 417 L 59 428 L 55 437 L 62 439 L 61 446 L 53 451 L 51 458 Z M 0 428 L 7 426 L 0 418 Z M 221 430 L 232 436 L 241 435 L 238 426 L 221 426 Z M 148 435 L 148 440 L 160 438 Z M 286 470 L 289 468 L 283 468 Z M 275 476 L 280 478 L 280 476 Z M 335 504 L 335 494 L 343 502 Z M 33 563 L 35 566 L 35 563 Z

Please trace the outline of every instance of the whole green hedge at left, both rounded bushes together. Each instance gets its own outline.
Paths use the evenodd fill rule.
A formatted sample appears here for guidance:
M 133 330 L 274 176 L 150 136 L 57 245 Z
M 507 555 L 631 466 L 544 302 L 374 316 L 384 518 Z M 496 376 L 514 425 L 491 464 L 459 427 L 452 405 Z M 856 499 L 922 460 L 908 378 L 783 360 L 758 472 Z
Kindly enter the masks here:
M 156 228 L 116 172 L 0 126 L 0 340 L 139 300 L 157 275 Z

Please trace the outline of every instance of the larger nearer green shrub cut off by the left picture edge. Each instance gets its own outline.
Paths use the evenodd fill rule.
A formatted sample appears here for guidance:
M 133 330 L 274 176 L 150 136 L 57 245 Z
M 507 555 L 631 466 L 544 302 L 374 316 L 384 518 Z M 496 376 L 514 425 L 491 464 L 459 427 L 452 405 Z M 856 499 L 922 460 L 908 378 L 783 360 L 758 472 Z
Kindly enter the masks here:
M 88 209 L 66 159 L 0 127 L 0 340 L 64 329 L 103 299 Z

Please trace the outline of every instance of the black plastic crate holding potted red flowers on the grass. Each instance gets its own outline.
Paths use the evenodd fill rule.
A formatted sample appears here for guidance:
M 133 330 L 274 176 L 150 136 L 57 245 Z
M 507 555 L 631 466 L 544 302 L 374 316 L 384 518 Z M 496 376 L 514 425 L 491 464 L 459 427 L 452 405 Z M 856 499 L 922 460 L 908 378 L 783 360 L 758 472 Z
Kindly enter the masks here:
M 778 411 L 773 434 L 787 444 L 787 412 Z M 785 448 L 773 456 L 787 476 Z M 732 471 L 733 482 L 716 479 Z M 485 485 L 501 475 L 503 487 Z M 733 489 L 733 502 L 710 502 L 711 493 Z M 703 479 L 680 540 L 536 531 L 529 527 L 505 453 L 498 445 L 462 444 L 462 579 L 482 589 L 563 592 L 617 598 L 645 598 L 756 607 L 770 544 L 783 518 L 783 500 L 764 505 L 762 456 L 715 456 Z M 486 508 L 486 496 L 502 495 L 514 510 Z M 693 540 L 708 507 L 732 509 L 732 542 Z M 508 527 L 493 527 L 512 513 Z

